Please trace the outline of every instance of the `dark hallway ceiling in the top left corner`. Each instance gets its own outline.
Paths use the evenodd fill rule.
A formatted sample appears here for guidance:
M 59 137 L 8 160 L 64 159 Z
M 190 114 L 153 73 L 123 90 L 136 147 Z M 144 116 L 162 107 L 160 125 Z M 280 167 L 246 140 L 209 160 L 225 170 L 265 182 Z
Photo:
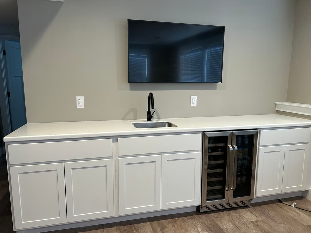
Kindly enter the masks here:
M 18 27 L 17 0 L 0 0 L 0 23 Z

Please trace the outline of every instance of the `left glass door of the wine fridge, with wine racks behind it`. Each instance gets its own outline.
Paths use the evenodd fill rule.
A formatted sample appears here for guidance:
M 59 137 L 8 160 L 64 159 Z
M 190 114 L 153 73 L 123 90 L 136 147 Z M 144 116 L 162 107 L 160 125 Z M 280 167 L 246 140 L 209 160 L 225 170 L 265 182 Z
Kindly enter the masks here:
M 202 169 L 202 206 L 229 201 L 229 166 L 232 132 L 204 134 Z

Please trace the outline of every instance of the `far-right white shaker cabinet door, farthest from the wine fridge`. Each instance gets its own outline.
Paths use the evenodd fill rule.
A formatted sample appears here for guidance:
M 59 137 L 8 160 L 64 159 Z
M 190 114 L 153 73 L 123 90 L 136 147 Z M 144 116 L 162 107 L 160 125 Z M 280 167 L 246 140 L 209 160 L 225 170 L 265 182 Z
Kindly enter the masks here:
M 283 193 L 309 189 L 309 187 L 307 187 L 309 182 L 307 177 L 309 145 L 310 144 L 285 146 Z

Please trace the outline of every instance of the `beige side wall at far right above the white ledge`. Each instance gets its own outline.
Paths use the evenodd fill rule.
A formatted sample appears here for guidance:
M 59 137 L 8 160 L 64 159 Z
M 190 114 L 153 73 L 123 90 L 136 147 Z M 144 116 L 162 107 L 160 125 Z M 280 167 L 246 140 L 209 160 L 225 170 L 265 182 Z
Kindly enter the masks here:
M 296 3 L 287 102 L 311 104 L 311 1 Z

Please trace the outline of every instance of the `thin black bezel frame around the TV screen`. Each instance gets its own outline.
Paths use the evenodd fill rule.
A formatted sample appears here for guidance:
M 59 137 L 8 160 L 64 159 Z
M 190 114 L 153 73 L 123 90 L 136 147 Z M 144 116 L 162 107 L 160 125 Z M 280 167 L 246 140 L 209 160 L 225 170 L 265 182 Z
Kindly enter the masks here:
M 220 82 L 130 82 L 130 70 L 129 70 L 129 46 L 128 46 L 128 83 L 159 83 L 159 84 L 174 84 L 174 83 L 222 83 L 222 71 L 223 71 L 223 66 L 224 66 L 224 44 L 225 44 L 225 26 L 216 26 L 216 25 L 204 25 L 204 24 L 187 24 L 187 23 L 175 23 L 175 22 L 163 22 L 163 21 L 150 21 L 150 20 L 133 20 L 133 19 L 128 19 L 129 21 L 140 21 L 140 22 L 155 22 L 155 23 L 169 23 L 169 24 L 182 24 L 182 25 L 196 25 L 196 26 L 208 26 L 208 27 L 218 27 L 218 28 L 223 28 L 224 30 L 224 35 L 222 38 L 222 61 L 221 61 L 221 76 L 220 76 Z M 129 43 L 128 43 L 129 45 Z

